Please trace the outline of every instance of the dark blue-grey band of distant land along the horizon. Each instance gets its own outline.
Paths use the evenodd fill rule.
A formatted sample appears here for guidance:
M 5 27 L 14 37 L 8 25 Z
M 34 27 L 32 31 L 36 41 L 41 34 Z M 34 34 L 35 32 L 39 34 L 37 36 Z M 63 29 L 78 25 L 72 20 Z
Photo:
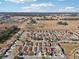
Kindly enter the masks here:
M 35 15 L 73 15 L 79 16 L 79 12 L 0 12 L 0 15 L 35 16 Z

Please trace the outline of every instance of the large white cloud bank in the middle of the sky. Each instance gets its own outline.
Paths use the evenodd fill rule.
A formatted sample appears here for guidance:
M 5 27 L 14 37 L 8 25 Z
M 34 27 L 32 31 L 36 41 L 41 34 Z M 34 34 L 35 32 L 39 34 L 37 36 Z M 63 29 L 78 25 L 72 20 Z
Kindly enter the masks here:
M 54 7 L 52 3 L 40 3 L 40 4 L 31 4 L 30 6 L 21 7 L 22 11 L 26 12 L 47 12 L 46 8 Z

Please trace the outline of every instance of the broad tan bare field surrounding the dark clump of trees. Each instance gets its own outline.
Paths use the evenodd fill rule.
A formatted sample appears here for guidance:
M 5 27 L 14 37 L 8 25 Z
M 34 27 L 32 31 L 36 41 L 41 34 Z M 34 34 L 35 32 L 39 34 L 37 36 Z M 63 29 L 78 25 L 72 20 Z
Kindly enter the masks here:
M 62 22 L 67 22 L 68 25 L 58 25 L 57 22 L 59 21 L 62 21 Z M 76 29 L 79 29 L 79 20 L 73 20 L 73 21 L 68 21 L 68 20 L 49 20 L 49 21 L 46 21 L 46 20 L 42 20 L 42 21 L 39 21 L 39 25 L 44 25 L 43 29 L 63 29 L 63 30 L 76 30 Z

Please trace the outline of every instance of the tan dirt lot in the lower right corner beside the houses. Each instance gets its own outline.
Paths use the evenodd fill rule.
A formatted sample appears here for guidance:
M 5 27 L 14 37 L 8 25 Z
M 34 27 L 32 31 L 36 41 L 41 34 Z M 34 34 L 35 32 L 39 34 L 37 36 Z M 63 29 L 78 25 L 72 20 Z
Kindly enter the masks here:
M 75 49 L 79 48 L 79 43 L 62 43 L 61 46 L 68 59 L 74 59 Z

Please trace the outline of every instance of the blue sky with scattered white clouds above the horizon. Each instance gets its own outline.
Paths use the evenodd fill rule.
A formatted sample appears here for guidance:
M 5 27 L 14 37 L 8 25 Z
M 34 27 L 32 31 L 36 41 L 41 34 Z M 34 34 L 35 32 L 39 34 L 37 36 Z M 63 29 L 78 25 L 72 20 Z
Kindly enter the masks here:
M 79 0 L 0 0 L 0 12 L 79 12 Z

